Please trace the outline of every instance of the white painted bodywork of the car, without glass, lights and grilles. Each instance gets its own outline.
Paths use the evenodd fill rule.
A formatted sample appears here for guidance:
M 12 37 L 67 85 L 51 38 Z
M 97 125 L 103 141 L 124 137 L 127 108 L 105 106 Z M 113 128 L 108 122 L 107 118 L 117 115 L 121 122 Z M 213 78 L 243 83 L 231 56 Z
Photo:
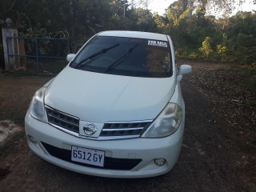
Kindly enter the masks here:
M 27 112 L 26 135 L 27 138 L 32 136 L 36 141 L 34 143 L 28 139 L 30 149 L 48 162 L 82 174 L 110 178 L 146 178 L 166 174 L 178 160 L 185 123 L 185 105 L 180 82 L 177 81 L 174 48 L 170 37 L 164 34 L 134 31 L 106 31 L 96 35 L 169 41 L 173 75 L 170 78 L 139 78 L 100 74 L 66 66 L 56 78 L 46 83 L 45 104 L 78 117 L 80 136 L 85 136 L 81 131 L 88 122 L 94 123 L 99 130 L 91 138 L 79 137 L 79 135 L 59 130 L 46 122 L 40 122 Z M 174 102 L 182 109 L 182 123 L 174 134 L 165 138 L 97 140 L 105 122 L 154 120 L 168 102 Z M 63 150 L 71 150 L 71 146 L 102 150 L 105 151 L 106 157 L 139 158 L 142 162 L 131 170 L 81 166 L 50 155 L 42 146 L 42 142 Z M 165 158 L 166 164 L 157 166 L 154 163 L 155 158 Z

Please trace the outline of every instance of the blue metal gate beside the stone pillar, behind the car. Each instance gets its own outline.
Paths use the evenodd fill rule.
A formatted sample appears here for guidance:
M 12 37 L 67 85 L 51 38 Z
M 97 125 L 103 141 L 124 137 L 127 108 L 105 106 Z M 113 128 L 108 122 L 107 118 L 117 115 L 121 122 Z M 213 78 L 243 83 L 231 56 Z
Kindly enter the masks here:
M 18 52 L 10 51 L 10 42 L 18 40 Z M 18 58 L 18 67 L 14 71 L 28 74 L 55 75 L 62 70 L 66 54 L 70 54 L 69 39 L 64 38 L 6 38 L 7 58 Z M 17 59 L 16 59 L 17 60 Z

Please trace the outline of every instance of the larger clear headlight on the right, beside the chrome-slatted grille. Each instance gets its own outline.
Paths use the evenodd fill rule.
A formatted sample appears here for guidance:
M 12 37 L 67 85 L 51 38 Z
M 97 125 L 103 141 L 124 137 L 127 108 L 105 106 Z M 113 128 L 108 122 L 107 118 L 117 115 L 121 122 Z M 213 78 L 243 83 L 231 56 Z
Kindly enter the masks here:
M 168 103 L 158 118 L 142 134 L 142 138 L 163 138 L 174 134 L 182 122 L 182 109 L 175 103 Z

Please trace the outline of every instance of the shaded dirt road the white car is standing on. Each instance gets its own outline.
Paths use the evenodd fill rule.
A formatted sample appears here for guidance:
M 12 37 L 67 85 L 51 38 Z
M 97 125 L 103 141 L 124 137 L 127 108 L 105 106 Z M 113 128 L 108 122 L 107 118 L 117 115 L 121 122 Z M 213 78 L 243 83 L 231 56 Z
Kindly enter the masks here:
M 186 132 L 170 173 L 143 179 L 77 174 L 32 154 L 23 130 L 0 147 L 0 168 L 10 171 L 2 174 L 0 191 L 256 191 L 256 94 L 246 86 L 255 73 L 192 66 L 182 79 Z M 23 128 L 30 98 L 48 80 L 0 77 L 0 120 Z

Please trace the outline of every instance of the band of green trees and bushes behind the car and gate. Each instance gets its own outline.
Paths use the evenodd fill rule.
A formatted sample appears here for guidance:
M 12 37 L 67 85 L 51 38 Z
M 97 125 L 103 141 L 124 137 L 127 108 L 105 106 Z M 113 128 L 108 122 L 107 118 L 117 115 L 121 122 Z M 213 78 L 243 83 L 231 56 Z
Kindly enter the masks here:
M 11 18 L 22 36 L 68 31 L 73 53 L 102 30 L 158 32 L 170 34 L 178 57 L 255 66 L 256 14 L 238 12 L 217 19 L 206 15 L 205 5 L 230 1 L 194 2 L 177 0 L 166 7 L 165 15 L 158 15 L 146 8 L 130 7 L 127 0 L 2 0 L 0 26 Z

